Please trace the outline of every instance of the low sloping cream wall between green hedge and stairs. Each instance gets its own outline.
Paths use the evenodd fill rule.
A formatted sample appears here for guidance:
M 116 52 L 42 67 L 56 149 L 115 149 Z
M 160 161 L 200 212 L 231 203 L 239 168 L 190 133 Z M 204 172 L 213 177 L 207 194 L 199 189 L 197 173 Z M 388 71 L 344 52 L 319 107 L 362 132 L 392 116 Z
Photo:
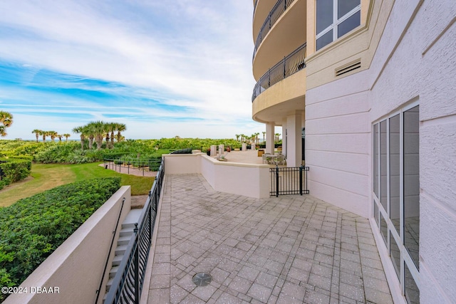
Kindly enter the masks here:
M 130 211 L 130 186 L 120 187 L 26 278 L 20 288 L 27 288 L 27 293 L 11 294 L 4 303 L 95 303 L 96 290 L 124 197 L 125 204 L 119 221 L 121 224 Z M 117 234 L 119 232 L 120 228 Z M 108 272 L 114 253 L 111 252 Z M 103 302 L 107 282 L 108 275 L 104 278 L 98 303 Z M 38 293 L 38 288 L 43 287 L 51 287 L 55 293 Z

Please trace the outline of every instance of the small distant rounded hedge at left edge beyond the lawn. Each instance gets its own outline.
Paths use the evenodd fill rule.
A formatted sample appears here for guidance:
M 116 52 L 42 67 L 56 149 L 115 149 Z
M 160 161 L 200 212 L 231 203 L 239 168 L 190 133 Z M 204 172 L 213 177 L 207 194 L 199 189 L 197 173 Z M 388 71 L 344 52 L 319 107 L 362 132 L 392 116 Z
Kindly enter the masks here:
M 30 172 L 30 159 L 0 159 L 0 190 L 12 182 L 25 179 Z

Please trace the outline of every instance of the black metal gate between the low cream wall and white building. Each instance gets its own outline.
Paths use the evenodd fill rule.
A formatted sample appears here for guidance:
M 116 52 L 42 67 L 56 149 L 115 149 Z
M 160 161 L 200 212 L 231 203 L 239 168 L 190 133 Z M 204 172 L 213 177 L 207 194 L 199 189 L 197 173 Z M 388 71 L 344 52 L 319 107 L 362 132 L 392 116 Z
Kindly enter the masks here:
M 271 174 L 270 196 L 309 194 L 307 172 L 309 167 L 279 167 L 269 169 Z

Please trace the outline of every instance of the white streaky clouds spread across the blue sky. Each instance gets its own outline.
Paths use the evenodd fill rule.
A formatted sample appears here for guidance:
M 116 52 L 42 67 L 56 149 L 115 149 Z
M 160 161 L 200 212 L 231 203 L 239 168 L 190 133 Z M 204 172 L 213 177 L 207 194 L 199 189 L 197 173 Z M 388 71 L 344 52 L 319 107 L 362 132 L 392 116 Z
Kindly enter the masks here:
M 202 120 L 199 127 L 190 122 L 177 124 L 182 126 L 180 130 L 195 132 L 188 136 L 203 137 L 216 128 L 223 130 L 218 133 L 228 134 L 231 131 L 224 130 L 237 130 L 237 126 L 217 127 L 217 122 L 239 119 L 245 119 L 239 124 L 241 127 L 254 124 L 261 130 L 264 127 L 250 118 L 254 86 L 252 10 L 252 3 L 245 0 L 109 4 L 4 0 L 0 2 L 0 28 L 9 28 L 11 32 L 0 35 L 0 60 L 121 83 L 126 87 L 100 86 L 98 90 L 125 93 L 130 89 L 135 95 L 152 96 L 164 105 L 177 106 L 174 112 L 138 104 L 130 105 L 129 110 L 107 107 L 108 112 L 95 110 L 93 115 L 98 117 L 123 112 L 185 117 L 188 113 L 178 107 L 191 107 L 195 109 L 191 115 Z M 33 80 L 33 75 L 28 77 Z M 0 105 L 8 103 L 5 95 L 0 98 Z M 80 107 L 65 111 L 57 108 L 54 112 L 82 113 L 97 106 L 90 100 L 84 105 L 81 100 L 60 102 L 79 103 Z M 172 129 L 176 122 L 161 124 Z M 135 122 L 129 121 L 128 125 L 130 130 L 136 130 Z M 140 137 L 135 134 L 132 131 L 132 136 Z

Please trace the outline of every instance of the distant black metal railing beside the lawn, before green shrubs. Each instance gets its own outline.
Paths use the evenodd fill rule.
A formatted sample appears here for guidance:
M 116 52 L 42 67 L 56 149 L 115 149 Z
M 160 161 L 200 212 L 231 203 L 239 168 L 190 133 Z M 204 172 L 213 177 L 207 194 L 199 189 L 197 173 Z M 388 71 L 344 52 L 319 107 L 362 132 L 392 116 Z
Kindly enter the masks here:
M 118 172 L 122 172 L 122 170 L 126 169 L 128 174 L 130 174 L 130 169 L 139 169 L 142 171 L 142 176 L 144 176 L 145 171 L 158 171 L 162 160 L 153 158 L 124 157 L 117 159 L 105 158 L 103 159 L 103 162 L 105 169 L 112 169 Z

